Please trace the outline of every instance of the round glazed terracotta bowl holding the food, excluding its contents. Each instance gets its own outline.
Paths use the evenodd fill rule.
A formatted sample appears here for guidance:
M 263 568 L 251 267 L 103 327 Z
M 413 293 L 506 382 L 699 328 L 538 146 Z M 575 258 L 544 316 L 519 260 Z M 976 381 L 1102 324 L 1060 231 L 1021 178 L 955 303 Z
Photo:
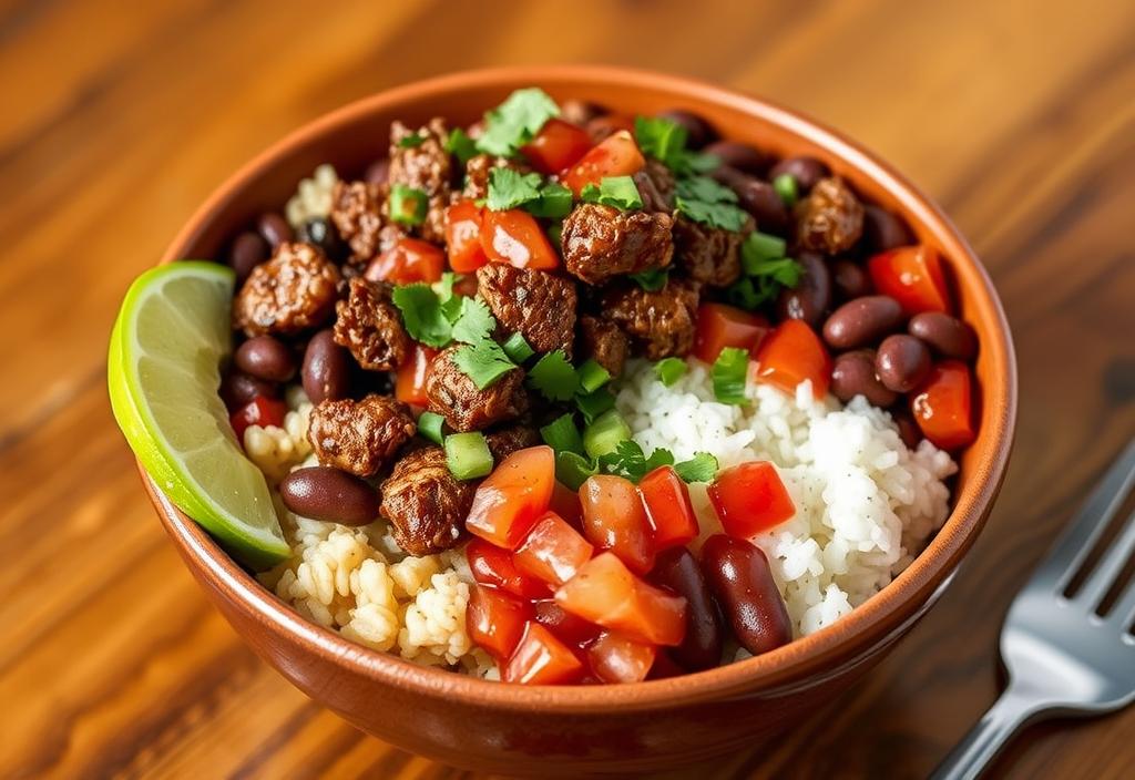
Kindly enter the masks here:
M 997 292 L 947 217 L 899 173 L 798 113 L 700 82 L 603 67 L 463 73 L 368 98 L 292 134 L 226 181 L 163 262 L 221 256 L 236 231 L 262 210 L 280 209 L 321 162 L 360 175 L 384 154 L 393 119 L 470 122 L 513 88 L 533 84 L 556 99 L 628 112 L 690 109 L 724 137 L 781 155 L 816 155 L 942 252 L 961 313 L 981 337 L 981 433 L 961 457 L 953 511 L 918 559 L 849 617 L 759 658 L 631 686 L 522 687 L 417 667 L 308 622 L 149 480 L 146 489 L 190 570 L 253 650 L 317 702 L 398 747 L 471 769 L 579 775 L 673 768 L 758 745 L 848 688 L 930 609 L 981 531 L 1009 458 L 1017 373 Z

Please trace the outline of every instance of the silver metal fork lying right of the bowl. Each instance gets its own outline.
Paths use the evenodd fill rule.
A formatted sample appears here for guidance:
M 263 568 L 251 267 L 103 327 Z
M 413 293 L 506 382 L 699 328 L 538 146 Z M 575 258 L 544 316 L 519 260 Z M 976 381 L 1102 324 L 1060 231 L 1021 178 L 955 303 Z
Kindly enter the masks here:
M 1135 551 L 1135 514 L 1070 597 L 1069 583 L 1135 486 L 1135 440 L 1081 508 L 1001 629 L 1009 685 L 933 780 L 978 777 L 1019 729 L 1058 715 L 1099 715 L 1135 701 L 1135 578 L 1102 617 L 1100 602 Z

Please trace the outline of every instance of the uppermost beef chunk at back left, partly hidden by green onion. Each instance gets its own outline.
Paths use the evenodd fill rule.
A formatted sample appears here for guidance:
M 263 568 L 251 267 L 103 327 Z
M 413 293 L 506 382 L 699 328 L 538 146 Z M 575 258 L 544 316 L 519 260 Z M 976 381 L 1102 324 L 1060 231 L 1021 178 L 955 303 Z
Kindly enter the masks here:
M 417 135 L 422 141 L 417 146 L 401 146 L 398 142 Z M 402 184 L 421 189 L 429 198 L 426 221 L 420 228 L 428 241 L 445 241 L 445 209 L 449 205 L 449 179 L 453 176 L 445 141 L 449 136 L 445 120 L 434 118 L 424 127 L 412 130 L 400 121 L 390 125 L 392 185 Z

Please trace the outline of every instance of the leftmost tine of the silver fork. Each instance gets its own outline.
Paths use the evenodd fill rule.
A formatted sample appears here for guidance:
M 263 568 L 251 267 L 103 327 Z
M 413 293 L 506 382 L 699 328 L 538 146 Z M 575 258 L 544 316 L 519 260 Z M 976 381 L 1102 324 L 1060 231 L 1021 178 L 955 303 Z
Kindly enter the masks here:
M 1135 440 L 1130 441 L 1116 463 L 1108 469 L 1079 512 L 1061 534 L 1033 575 L 1033 582 L 1051 583 L 1062 592 L 1084 563 L 1108 522 L 1119 510 L 1124 497 L 1135 483 Z

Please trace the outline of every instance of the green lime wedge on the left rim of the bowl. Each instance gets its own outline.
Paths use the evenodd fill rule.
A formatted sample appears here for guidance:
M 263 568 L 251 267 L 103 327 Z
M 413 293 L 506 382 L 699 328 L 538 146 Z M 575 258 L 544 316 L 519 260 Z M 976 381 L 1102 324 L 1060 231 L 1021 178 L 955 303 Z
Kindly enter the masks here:
M 115 419 L 146 473 L 238 561 L 264 569 L 288 554 L 268 483 L 244 457 L 217 395 L 232 349 L 234 275 L 209 262 L 146 271 L 110 334 Z

